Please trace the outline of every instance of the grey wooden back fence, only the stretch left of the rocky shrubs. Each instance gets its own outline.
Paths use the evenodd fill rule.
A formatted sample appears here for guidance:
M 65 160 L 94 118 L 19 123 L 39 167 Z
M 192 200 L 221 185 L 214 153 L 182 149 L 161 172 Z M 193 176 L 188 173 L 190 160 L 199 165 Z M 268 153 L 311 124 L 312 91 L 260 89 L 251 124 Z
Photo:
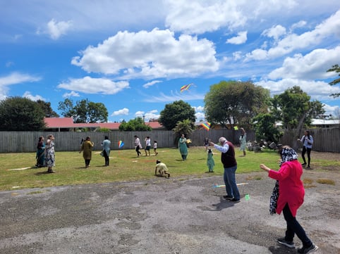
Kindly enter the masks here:
M 90 136 L 91 141 L 95 143 L 94 150 L 102 150 L 101 143 L 104 136 L 109 136 L 111 141 L 111 149 L 118 150 L 118 142 L 123 141 L 122 149 L 134 148 L 134 136 L 140 138 L 142 146 L 145 146 L 145 137 L 150 136 L 152 145 L 153 141 L 157 140 L 158 147 L 176 147 L 176 136 L 174 132 L 166 130 L 154 130 L 151 132 L 0 132 L 0 153 L 28 153 L 36 151 L 37 140 L 39 136 L 44 136 L 47 139 L 48 134 L 53 134 L 55 137 L 56 151 L 78 151 L 80 148 L 81 139 Z M 209 138 L 214 142 L 219 140 L 220 136 L 225 136 L 234 144 L 238 144 L 239 131 L 229 129 L 217 129 L 207 132 L 205 129 L 198 129 L 188 138 L 192 141 L 190 146 L 203 146 L 205 138 Z M 255 138 L 252 132 L 248 133 L 248 139 Z

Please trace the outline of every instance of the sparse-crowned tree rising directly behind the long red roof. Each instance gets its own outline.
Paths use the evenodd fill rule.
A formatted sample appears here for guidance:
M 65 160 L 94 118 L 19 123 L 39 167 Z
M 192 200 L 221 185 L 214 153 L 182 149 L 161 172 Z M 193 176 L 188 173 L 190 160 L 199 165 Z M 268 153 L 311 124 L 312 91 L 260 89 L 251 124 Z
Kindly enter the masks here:
M 73 122 L 107 122 L 109 113 L 103 103 L 94 103 L 88 99 L 77 101 L 75 105 L 71 99 L 59 102 L 58 109 L 66 118 L 73 118 Z

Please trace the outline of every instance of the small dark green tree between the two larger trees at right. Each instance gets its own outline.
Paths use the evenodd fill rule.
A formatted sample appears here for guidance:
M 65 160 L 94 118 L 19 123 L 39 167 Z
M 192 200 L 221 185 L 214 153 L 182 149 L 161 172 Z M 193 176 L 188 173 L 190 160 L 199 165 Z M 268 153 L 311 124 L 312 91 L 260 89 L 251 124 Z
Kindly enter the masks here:
M 275 118 L 273 114 L 260 113 L 253 118 L 253 122 L 255 122 L 255 136 L 257 141 L 263 139 L 268 142 L 279 142 L 283 132 L 280 132 L 279 128 L 277 128 L 277 118 Z

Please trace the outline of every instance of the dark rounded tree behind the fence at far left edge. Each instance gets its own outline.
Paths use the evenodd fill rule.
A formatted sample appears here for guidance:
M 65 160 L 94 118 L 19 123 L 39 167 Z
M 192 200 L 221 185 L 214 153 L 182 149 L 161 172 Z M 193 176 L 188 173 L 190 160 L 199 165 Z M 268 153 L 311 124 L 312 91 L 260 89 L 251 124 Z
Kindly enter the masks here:
M 0 131 L 42 131 L 44 110 L 28 98 L 8 97 L 0 101 Z

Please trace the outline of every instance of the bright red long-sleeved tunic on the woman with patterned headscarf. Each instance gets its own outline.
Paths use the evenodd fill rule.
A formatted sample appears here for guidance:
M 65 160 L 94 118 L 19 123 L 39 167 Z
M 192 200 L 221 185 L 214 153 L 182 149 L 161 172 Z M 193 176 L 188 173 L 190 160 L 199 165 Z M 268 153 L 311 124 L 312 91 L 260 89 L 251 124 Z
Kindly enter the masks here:
M 288 203 L 293 217 L 296 217 L 298 208 L 303 204 L 305 189 L 300 180 L 303 168 L 298 160 L 283 163 L 279 171 L 269 170 L 268 176 L 279 180 L 279 199 L 277 200 L 277 213 L 281 214 L 284 205 Z

